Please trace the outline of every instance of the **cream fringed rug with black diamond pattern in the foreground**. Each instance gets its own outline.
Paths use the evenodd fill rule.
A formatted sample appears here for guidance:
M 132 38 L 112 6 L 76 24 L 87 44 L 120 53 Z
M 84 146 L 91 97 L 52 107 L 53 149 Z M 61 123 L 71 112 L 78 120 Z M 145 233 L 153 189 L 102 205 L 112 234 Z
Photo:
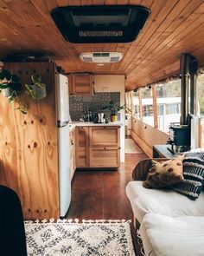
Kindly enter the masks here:
M 128 221 L 25 221 L 29 256 L 135 256 Z

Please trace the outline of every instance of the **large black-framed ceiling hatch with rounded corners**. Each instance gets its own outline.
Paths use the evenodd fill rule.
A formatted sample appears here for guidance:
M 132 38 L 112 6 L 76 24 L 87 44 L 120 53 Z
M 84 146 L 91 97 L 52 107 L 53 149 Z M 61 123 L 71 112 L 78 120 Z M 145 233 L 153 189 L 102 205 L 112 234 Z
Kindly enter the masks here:
M 137 5 L 64 6 L 51 16 L 68 42 L 127 43 L 143 29 L 150 10 Z

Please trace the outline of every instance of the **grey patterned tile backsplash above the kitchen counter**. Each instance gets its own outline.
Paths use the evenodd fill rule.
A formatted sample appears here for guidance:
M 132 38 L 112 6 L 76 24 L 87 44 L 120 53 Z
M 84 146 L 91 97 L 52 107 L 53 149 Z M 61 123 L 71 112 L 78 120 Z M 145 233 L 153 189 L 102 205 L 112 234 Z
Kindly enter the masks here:
M 96 93 L 92 96 L 71 95 L 69 96 L 69 112 L 71 119 L 72 121 L 80 121 L 80 118 L 82 118 L 87 111 L 92 111 L 92 115 L 102 111 L 106 116 L 110 116 L 109 110 L 103 110 L 110 101 L 116 102 L 120 105 L 120 93 Z

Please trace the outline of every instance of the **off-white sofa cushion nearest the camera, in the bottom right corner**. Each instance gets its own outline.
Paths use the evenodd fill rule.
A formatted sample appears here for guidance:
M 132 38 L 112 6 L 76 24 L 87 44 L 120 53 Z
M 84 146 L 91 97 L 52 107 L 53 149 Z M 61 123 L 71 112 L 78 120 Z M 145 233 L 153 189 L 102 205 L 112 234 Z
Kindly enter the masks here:
M 146 214 L 140 226 L 146 256 L 202 256 L 204 217 Z

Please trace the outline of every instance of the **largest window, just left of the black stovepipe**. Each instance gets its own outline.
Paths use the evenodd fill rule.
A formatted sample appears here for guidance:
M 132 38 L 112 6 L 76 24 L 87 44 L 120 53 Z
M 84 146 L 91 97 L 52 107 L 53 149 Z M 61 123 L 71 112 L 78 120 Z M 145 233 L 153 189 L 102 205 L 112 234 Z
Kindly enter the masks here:
M 181 117 L 181 82 L 167 82 L 156 87 L 158 128 L 169 132 L 171 122 L 180 122 Z

